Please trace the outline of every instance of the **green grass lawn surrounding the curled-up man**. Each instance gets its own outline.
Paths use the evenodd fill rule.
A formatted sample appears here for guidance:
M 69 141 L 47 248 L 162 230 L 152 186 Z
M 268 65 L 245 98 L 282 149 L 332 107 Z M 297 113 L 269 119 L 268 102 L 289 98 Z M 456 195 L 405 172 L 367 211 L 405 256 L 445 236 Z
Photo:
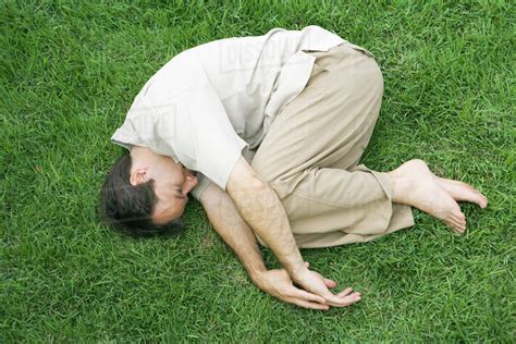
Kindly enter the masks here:
M 509 1 L 0 2 L 0 342 L 512 342 L 515 8 Z M 364 163 L 410 158 L 483 192 L 455 236 L 417 225 L 304 250 L 363 300 L 328 312 L 261 293 L 195 201 L 176 239 L 101 226 L 109 140 L 168 60 L 213 39 L 317 24 L 369 49 L 384 102 Z M 269 267 L 278 267 L 263 249 Z

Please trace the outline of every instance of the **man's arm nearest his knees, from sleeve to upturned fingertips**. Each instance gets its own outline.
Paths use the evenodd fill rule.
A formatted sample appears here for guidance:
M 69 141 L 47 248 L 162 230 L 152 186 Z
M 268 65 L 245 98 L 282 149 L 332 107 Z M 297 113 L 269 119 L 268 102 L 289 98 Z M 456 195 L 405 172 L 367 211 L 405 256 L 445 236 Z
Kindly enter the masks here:
M 348 306 L 360 299 L 358 293 L 333 295 L 318 273 L 308 270 L 297 248 L 283 204 L 258 173 L 239 158 L 226 184 L 228 194 L 255 232 L 278 257 L 292 280 L 306 291 L 324 297 L 331 306 Z

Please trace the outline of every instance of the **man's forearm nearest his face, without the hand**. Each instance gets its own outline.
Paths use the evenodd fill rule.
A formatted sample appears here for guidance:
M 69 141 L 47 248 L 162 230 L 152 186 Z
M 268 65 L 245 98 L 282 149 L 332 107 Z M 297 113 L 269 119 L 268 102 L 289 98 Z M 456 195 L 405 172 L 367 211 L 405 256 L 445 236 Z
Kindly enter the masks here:
M 253 282 L 267 271 L 251 229 L 242 219 L 232 199 L 218 186 L 210 184 L 201 197 L 208 219 L 222 239 L 233 249 Z

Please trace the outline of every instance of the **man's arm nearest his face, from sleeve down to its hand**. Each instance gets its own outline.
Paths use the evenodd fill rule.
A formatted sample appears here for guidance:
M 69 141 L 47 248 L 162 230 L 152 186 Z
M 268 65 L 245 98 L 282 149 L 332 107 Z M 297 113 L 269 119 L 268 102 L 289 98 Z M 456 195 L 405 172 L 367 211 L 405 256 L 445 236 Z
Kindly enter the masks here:
M 323 297 L 295 287 L 286 271 L 267 270 L 253 231 L 224 191 L 211 183 L 201 194 L 200 202 L 216 231 L 235 251 L 253 283 L 260 290 L 285 303 L 311 309 L 328 309 Z M 335 286 L 335 282 L 331 280 L 324 282 L 329 287 Z

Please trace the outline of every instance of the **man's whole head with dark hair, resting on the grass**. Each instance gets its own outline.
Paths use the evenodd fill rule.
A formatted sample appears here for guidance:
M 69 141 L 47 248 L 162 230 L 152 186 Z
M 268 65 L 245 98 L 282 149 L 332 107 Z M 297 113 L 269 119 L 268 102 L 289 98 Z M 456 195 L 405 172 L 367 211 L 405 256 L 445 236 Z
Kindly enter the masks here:
M 132 236 L 182 230 L 187 194 L 197 177 L 172 158 L 135 146 L 107 175 L 100 193 L 102 218 Z

